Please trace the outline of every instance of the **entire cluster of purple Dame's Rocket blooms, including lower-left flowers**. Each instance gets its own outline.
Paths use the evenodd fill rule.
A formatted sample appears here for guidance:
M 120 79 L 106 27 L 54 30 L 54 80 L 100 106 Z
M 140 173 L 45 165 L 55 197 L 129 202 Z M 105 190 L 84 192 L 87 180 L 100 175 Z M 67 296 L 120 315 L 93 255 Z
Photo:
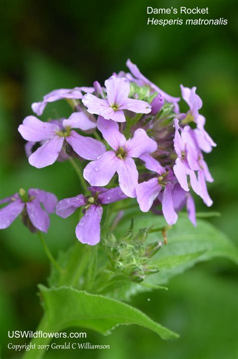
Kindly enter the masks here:
M 169 225 L 184 206 L 196 225 L 192 191 L 207 206 L 212 204 L 206 182 L 213 179 L 202 153 L 216 145 L 204 129 L 196 87 L 181 85 L 189 107 L 181 113 L 179 97 L 162 91 L 130 60 L 127 66 L 130 73 L 114 73 L 104 86 L 95 81 L 93 87 L 54 90 L 32 105 L 40 116 L 47 103 L 66 99 L 73 108 L 69 118 L 43 122 L 30 115 L 18 128 L 28 141 L 26 153 L 32 166 L 42 168 L 71 157 L 83 165 L 88 192 L 61 200 L 56 213 L 66 218 L 83 207 L 76 236 L 89 245 L 100 241 L 103 206 L 112 202 L 136 198 L 141 211 L 163 213 Z M 48 216 L 40 202 L 48 212 L 56 203 L 51 199 L 52 206 L 47 207 L 43 193 L 47 192 L 29 190 L 27 200 L 19 195 L 4 200 L 10 204 L 0 209 L 1 228 L 25 211 L 34 227 L 46 231 Z

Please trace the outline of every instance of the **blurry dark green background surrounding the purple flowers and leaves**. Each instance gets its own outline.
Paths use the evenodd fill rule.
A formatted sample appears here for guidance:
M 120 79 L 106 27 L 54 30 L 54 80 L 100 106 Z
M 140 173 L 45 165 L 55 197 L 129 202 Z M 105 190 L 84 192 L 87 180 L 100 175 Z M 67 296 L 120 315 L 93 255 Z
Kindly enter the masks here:
M 17 127 L 33 114 L 31 103 L 56 88 L 102 84 L 113 71 L 126 70 L 131 58 L 143 74 L 166 92 L 180 96 L 179 85 L 197 86 L 203 100 L 200 112 L 217 148 L 205 156 L 215 181 L 208 189 L 214 201 L 207 209 L 198 198 L 197 210 L 218 211 L 209 218 L 232 241 L 237 240 L 237 116 L 235 40 L 236 2 L 195 0 L 138 2 L 77 2 L 76 0 L 3 1 L 0 29 L 0 198 L 20 187 L 42 188 L 59 199 L 79 193 L 70 164 L 31 167 Z M 208 7 L 204 18 L 228 20 L 227 26 L 147 26 L 146 7 Z M 157 17 L 157 16 L 155 16 Z M 180 15 L 167 18 L 184 18 Z M 159 18 L 159 16 L 158 16 Z M 187 16 L 186 18 L 196 18 Z M 186 105 L 181 105 L 186 111 Z M 49 104 L 43 119 L 67 116 L 64 101 Z M 51 216 L 46 239 L 57 254 L 75 240 L 74 218 Z M 42 309 L 37 283 L 45 283 L 48 263 L 39 243 L 18 219 L 1 231 L 0 338 L 1 358 L 21 355 L 6 349 L 7 331 L 33 330 Z M 163 342 L 140 327 L 119 327 L 108 337 L 87 331 L 91 343 L 111 345 L 108 351 L 80 352 L 98 359 L 233 359 L 237 357 L 236 268 L 228 261 L 197 265 L 169 283 L 169 291 L 140 294 L 132 305 L 154 320 L 179 332 L 181 338 Z M 149 299 L 149 300 L 148 300 Z M 16 339 L 16 343 L 24 343 Z M 46 357 L 76 358 L 69 351 L 48 352 Z

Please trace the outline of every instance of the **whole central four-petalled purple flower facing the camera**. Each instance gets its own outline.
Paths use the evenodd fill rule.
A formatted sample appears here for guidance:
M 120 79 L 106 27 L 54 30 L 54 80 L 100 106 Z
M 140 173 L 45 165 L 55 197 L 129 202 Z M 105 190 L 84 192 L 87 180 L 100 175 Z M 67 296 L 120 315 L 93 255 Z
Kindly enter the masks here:
M 113 151 L 107 151 L 90 162 L 83 171 L 84 178 L 92 186 L 106 186 L 117 172 L 122 191 L 129 197 L 136 197 L 138 171 L 133 158 L 156 151 L 157 143 L 142 129 L 136 130 L 133 138 L 127 141 L 118 124 L 101 116 L 97 128 Z

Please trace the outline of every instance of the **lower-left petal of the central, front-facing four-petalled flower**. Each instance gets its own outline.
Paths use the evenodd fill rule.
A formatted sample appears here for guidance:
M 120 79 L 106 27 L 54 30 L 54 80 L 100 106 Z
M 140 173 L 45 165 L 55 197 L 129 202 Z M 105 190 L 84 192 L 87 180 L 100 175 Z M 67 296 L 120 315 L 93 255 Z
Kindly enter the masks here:
M 106 186 L 115 171 L 119 161 L 113 151 L 105 152 L 98 160 L 90 162 L 83 171 L 83 177 L 92 186 Z

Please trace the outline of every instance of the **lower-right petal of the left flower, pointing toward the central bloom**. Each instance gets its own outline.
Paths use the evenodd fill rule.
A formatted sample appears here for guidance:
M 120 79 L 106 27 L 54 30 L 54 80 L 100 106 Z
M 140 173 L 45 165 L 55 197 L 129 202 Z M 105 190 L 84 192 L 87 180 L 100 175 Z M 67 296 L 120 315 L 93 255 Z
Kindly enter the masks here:
M 75 131 L 71 131 L 70 136 L 66 137 L 66 141 L 85 160 L 95 160 L 106 151 L 102 142 L 91 137 L 81 136 Z

